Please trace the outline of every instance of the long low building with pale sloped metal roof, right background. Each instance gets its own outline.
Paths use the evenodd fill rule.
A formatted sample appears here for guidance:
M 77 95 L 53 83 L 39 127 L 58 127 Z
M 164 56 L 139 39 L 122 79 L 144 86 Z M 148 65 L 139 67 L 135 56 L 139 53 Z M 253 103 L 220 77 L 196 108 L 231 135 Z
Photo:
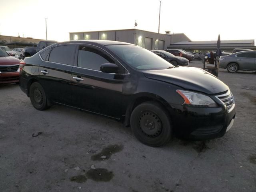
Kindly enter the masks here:
M 186 51 L 212 51 L 216 50 L 217 41 L 180 41 L 172 43 L 168 48 L 184 49 Z M 221 40 L 221 50 L 232 52 L 234 48 L 252 49 L 255 50 L 254 39 L 250 40 Z

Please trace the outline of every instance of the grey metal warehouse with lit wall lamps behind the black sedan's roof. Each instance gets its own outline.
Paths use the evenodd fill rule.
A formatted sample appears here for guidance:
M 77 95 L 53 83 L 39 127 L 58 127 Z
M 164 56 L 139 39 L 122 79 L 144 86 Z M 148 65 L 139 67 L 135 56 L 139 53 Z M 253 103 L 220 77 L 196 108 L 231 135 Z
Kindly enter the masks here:
M 163 50 L 170 44 L 180 41 L 191 41 L 184 33 L 159 34 L 138 29 L 70 32 L 70 40 L 114 40 L 136 44 L 148 50 Z

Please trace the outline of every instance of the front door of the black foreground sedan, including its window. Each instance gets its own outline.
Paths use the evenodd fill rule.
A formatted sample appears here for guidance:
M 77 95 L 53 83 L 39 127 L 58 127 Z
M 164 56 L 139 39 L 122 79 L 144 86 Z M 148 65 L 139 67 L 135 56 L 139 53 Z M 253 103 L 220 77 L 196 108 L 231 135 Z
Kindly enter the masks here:
M 118 65 L 120 72 L 101 72 L 100 65 L 104 63 Z M 123 79 L 124 68 L 107 52 L 96 46 L 80 45 L 71 78 L 74 106 L 121 118 Z

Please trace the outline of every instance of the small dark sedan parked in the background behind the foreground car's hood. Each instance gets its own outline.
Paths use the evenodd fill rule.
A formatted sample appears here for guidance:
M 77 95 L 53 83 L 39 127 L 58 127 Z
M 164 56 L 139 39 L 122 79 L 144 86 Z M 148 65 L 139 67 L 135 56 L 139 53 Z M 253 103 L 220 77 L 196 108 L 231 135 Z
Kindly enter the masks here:
M 164 50 L 152 50 L 154 54 L 157 54 L 158 56 L 162 57 L 166 61 L 170 62 L 174 66 L 178 65 L 188 65 L 189 61 L 188 59 L 184 57 L 175 56 L 167 51 Z

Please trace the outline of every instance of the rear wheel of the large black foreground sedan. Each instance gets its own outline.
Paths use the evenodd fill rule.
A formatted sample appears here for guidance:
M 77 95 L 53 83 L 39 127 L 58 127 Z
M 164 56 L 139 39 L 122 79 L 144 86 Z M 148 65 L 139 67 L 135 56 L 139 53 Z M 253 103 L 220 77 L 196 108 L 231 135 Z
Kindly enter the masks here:
M 29 89 L 30 101 L 37 110 L 49 108 L 44 88 L 38 82 L 34 82 Z

